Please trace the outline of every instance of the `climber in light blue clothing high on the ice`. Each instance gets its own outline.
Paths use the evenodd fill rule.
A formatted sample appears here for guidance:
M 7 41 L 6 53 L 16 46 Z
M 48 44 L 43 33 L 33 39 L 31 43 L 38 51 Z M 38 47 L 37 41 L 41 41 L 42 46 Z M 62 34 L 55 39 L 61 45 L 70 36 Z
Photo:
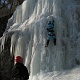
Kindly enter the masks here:
M 48 21 L 47 31 L 48 31 L 48 37 L 47 37 L 47 42 L 45 47 L 48 47 L 49 41 L 51 38 L 53 39 L 54 45 L 56 45 L 56 35 L 54 32 L 54 20 Z

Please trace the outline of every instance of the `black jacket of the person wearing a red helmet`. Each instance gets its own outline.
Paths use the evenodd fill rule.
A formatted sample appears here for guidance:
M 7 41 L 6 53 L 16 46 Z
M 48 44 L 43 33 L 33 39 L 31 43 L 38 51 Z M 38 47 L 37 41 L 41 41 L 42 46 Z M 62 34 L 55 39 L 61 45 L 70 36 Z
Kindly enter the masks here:
M 16 63 L 14 65 L 14 67 L 12 69 L 12 79 L 13 78 L 23 78 L 23 80 L 29 79 L 28 70 L 22 63 Z

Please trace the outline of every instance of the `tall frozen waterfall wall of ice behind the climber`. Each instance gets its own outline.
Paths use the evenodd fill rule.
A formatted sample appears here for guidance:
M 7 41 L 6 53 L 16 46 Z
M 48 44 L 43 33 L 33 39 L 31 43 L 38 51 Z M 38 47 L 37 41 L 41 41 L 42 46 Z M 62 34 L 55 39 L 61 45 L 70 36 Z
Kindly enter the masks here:
M 1 48 L 10 36 L 11 55 L 23 57 L 31 76 L 79 65 L 79 8 L 78 0 L 25 0 L 9 19 Z M 51 40 L 45 48 L 47 22 L 52 16 L 57 45 Z

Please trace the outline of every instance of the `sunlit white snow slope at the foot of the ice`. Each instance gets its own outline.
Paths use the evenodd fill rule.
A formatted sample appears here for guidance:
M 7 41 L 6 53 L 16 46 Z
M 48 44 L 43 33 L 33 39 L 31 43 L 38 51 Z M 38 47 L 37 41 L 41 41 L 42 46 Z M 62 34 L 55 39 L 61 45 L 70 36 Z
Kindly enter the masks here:
M 30 80 L 80 80 L 80 66 L 72 70 L 39 73 Z

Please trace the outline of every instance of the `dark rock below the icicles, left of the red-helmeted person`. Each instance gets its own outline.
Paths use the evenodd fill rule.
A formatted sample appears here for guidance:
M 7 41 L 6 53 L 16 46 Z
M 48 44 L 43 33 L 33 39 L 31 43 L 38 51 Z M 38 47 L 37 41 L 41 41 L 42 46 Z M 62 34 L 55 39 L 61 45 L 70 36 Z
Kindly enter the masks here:
M 13 61 L 10 58 L 9 48 L 10 48 L 10 39 L 8 39 L 7 43 L 5 44 L 4 51 L 2 51 L 2 53 L 0 54 L 1 55 L 0 71 L 1 71 L 2 80 L 10 80 L 11 78 Z

